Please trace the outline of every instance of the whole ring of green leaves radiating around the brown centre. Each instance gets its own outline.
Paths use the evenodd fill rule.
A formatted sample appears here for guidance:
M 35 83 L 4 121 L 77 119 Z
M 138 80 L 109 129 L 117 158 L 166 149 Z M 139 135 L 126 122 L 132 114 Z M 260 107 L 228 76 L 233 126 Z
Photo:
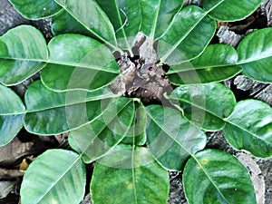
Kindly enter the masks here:
M 52 17 L 53 39 L 30 25 L 0 36 L 0 146 L 24 127 L 37 135 L 69 132 L 72 148 L 45 151 L 24 175 L 21 200 L 80 203 L 84 164 L 95 162 L 94 204 L 167 203 L 168 170 L 182 171 L 189 203 L 255 204 L 248 170 L 223 151 L 204 150 L 205 131 L 223 131 L 236 150 L 272 156 L 272 110 L 236 102 L 222 82 L 238 73 L 272 83 L 271 28 L 238 48 L 210 44 L 216 21 L 238 21 L 262 0 L 10 0 L 31 20 Z M 123 77 L 115 59 L 135 57 L 139 34 L 170 67 L 167 107 L 112 92 Z M 137 46 L 136 46 L 137 47 Z M 24 100 L 12 87 L 41 72 Z M 23 102 L 24 101 L 24 102 Z

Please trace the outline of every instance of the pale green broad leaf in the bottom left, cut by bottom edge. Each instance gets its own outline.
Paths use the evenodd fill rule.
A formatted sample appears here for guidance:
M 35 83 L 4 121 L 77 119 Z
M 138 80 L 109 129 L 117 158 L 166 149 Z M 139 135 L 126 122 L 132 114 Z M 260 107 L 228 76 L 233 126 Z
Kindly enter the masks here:
M 80 203 L 86 173 L 73 151 L 49 150 L 34 160 L 24 174 L 22 203 Z

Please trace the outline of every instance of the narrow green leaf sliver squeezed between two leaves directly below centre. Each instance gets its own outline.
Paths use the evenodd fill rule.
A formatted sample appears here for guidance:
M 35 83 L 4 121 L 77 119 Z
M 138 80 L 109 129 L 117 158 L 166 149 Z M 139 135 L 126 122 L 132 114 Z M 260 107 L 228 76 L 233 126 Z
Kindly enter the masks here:
M 145 127 L 147 122 L 147 114 L 141 102 L 139 102 L 139 104 L 136 103 L 135 106 L 136 111 L 133 118 L 132 126 L 121 142 L 141 146 L 144 145 L 146 142 Z

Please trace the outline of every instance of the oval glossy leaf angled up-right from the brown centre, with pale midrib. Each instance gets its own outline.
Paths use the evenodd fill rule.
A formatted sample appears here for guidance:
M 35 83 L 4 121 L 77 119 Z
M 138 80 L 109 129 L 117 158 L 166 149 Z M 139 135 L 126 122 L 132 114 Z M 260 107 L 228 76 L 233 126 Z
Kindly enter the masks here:
M 204 51 L 216 30 L 215 20 L 206 15 L 198 6 L 189 5 L 174 16 L 158 44 L 161 63 L 182 63 Z

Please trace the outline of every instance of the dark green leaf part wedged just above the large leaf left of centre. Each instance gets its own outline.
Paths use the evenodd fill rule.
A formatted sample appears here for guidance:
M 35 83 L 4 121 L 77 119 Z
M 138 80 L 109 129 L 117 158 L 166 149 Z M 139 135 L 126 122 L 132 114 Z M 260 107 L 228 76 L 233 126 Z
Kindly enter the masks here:
M 76 21 L 72 15 L 62 10 L 52 18 L 51 25 L 53 35 L 58 34 L 84 34 L 95 37 L 83 24 Z

